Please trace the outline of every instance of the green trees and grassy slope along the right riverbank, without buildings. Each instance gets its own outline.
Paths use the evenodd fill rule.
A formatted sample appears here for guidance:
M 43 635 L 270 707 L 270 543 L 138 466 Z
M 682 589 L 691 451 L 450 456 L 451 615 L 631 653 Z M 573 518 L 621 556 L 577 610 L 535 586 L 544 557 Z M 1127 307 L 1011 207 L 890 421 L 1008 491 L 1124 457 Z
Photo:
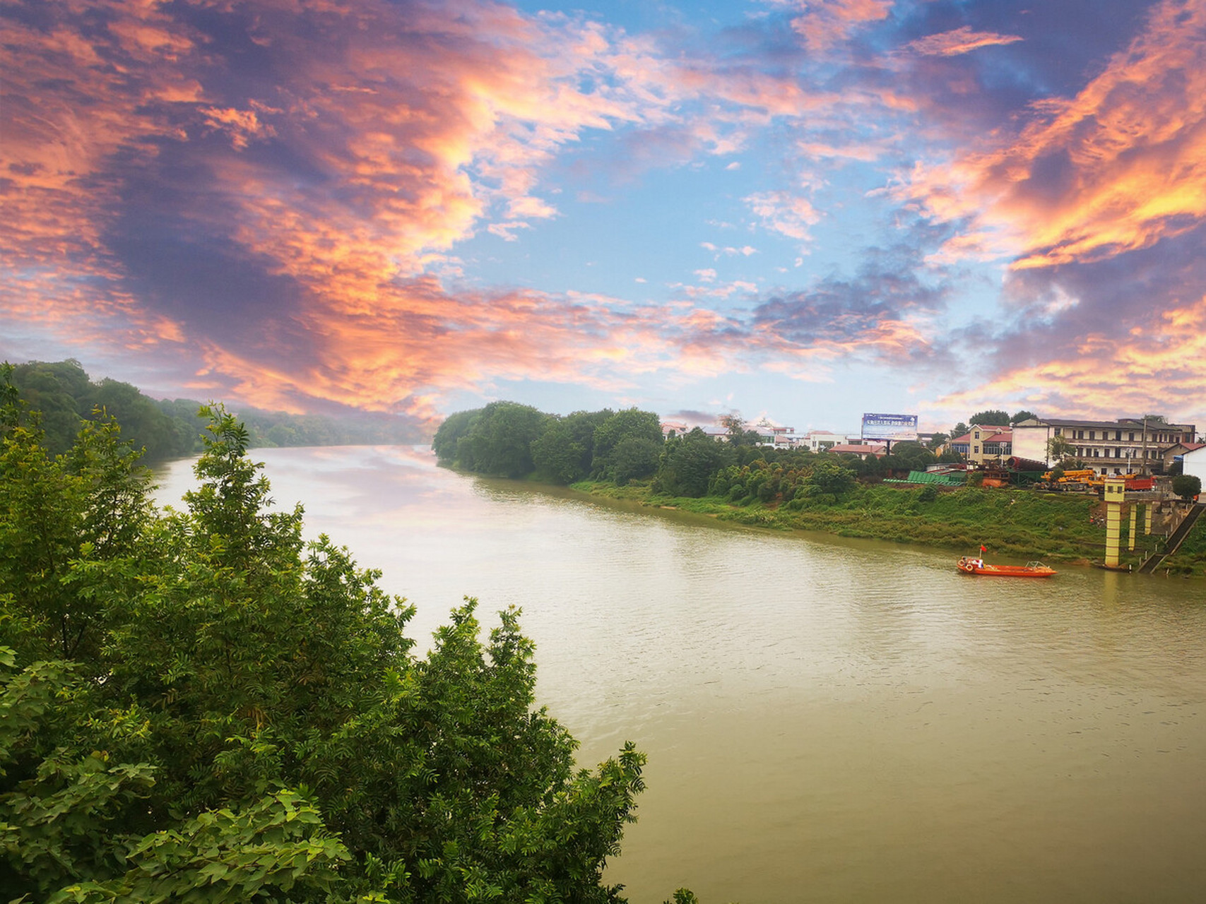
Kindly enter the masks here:
M 1103 558 L 1105 526 L 1095 495 L 884 483 L 886 476 L 936 460 L 917 444 L 897 450 L 862 462 L 766 448 L 739 424 L 728 442 L 702 430 L 663 440 L 654 412 L 558 417 L 505 401 L 452 415 L 433 441 L 440 463 L 461 470 L 568 485 L 599 498 L 750 527 L 913 542 L 960 554 L 983 545 L 1000 558 L 1085 564 Z M 1163 544 L 1142 530 L 1141 519 L 1135 552 L 1125 550 L 1124 536 L 1124 564 L 1137 565 Z M 1161 573 L 1206 576 L 1206 523 L 1195 527 Z

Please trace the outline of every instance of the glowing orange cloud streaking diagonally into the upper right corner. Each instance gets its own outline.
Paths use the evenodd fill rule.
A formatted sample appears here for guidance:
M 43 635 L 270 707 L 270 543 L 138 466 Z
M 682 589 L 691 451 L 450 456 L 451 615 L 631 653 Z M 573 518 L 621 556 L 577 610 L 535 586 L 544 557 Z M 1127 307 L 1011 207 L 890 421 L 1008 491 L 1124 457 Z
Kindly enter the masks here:
M 950 164 L 918 166 L 898 195 L 967 218 L 946 248 L 1012 257 L 1015 269 L 1149 247 L 1206 216 L 1206 6 L 1165 0 L 1076 96 L 1035 106 L 1014 136 Z

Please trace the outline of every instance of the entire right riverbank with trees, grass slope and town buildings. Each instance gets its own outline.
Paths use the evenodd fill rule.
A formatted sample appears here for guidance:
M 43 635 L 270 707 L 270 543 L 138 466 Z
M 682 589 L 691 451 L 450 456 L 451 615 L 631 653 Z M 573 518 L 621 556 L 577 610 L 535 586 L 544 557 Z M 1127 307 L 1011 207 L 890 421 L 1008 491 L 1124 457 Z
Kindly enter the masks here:
M 917 415 L 865 413 L 857 432 L 797 432 L 737 415 L 691 424 L 637 409 L 556 416 L 499 401 L 450 416 L 432 448 L 463 471 L 751 527 L 960 553 L 984 545 L 999 565 L 1041 557 L 1206 575 L 1206 522 L 1195 530 L 1206 444 L 1195 424 L 1154 413 L 989 410 L 949 433 L 920 433 Z

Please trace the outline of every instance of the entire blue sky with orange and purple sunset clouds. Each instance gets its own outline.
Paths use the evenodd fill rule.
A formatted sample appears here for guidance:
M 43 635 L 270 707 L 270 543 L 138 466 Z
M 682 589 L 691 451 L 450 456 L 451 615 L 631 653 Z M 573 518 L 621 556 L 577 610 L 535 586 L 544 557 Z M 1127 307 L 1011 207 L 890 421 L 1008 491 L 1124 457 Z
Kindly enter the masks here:
M 0 359 L 1206 430 L 1206 0 L 5 0 Z

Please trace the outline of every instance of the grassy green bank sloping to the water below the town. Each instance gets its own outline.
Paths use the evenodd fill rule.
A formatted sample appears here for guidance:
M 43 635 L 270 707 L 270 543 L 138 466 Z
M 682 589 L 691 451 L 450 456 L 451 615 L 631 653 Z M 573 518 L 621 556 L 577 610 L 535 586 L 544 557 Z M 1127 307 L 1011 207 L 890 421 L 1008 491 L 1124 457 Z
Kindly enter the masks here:
M 959 554 L 977 552 L 983 545 L 994 559 L 1038 558 L 1087 565 L 1105 554 L 1105 527 L 1095 517 L 1099 500 L 1079 494 L 964 487 L 935 495 L 923 487 L 878 485 L 859 486 L 836 499 L 733 505 L 709 497 L 657 494 L 649 483 L 617 487 L 581 481 L 573 488 L 598 498 L 680 509 L 771 530 L 815 530 L 920 544 Z M 1122 563 L 1137 567 L 1155 544 L 1157 538 L 1141 534 L 1135 552 L 1123 551 Z M 1165 569 L 1206 577 L 1206 526 L 1194 529 L 1177 556 L 1165 562 Z

